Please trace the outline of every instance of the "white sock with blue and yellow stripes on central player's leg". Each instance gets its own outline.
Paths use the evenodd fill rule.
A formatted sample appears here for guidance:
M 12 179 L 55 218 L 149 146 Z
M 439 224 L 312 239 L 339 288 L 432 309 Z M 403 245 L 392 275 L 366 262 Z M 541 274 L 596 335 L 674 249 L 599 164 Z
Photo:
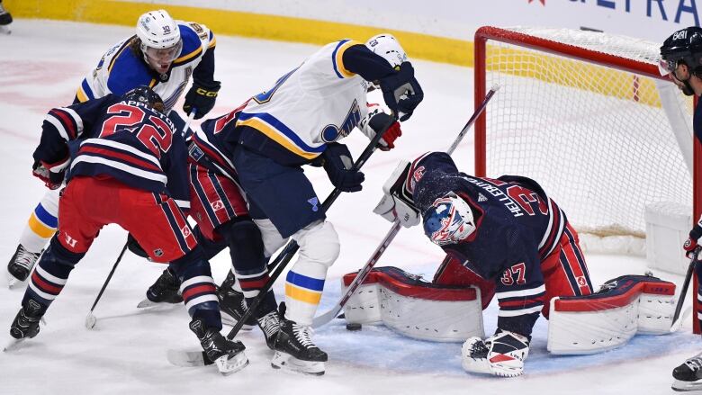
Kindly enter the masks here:
M 338 234 L 330 222 L 319 220 L 295 232 L 293 239 L 300 253 L 285 278 L 285 318 L 311 326 L 327 271 L 338 257 Z

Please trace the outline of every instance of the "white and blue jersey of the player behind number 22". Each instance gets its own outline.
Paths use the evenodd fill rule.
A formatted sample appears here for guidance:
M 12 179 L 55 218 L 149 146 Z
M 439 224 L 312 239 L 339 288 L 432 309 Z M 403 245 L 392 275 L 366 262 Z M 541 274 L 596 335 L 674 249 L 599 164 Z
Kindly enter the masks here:
M 132 36 L 121 40 L 103 55 L 103 58 L 78 87 L 76 102 L 103 97 L 106 94 L 125 94 L 139 85 L 148 85 L 156 92 L 170 111 L 188 84 L 193 69 L 200 64 L 208 49 L 214 48 L 216 40 L 212 32 L 202 24 L 175 21 L 180 29 L 183 49 L 164 75 L 148 67 L 143 58 L 130 49 Z

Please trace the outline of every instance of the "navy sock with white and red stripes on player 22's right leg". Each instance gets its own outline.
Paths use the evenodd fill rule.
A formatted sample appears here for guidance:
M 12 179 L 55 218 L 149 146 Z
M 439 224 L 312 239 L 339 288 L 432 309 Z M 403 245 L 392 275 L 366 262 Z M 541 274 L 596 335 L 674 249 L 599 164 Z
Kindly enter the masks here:
M 180 280 L 180 292 L 190 317 L 202 319 L 208 328 L 221 329 L 220 302 L 210 263 L 202 258 L 200 247 L 171 262 L 170 269 Z

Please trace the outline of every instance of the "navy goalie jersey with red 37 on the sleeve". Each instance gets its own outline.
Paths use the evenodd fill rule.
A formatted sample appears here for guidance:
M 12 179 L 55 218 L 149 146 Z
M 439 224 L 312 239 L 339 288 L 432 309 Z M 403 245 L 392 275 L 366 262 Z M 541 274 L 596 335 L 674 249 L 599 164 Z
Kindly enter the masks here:
M 421 212 L 454 192 L 473 207 L 476 230 L 447 254 L 496 283 L 498 328 L 529 335 L 545 302 L 541 262 L 559 243 L 567 219 L 544 190 L 523 176 L 498 179 L 458 171 L 446 153 L 426 154 L 410 167 L 412 195 Z

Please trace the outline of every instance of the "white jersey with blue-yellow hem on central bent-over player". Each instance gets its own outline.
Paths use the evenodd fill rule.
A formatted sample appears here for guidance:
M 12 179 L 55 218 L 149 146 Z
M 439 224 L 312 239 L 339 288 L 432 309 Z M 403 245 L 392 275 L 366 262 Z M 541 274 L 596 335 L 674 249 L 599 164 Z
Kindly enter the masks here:
M 344 67 L 353 40 L 332 42 L 255 95 L 239 114 L 240 142 L 284 165 L 308 163 L 326 144 L 346 137 L 364 119 L 368 83 Z M 369 138 L 370 128 L 363 129 Z M 271 140 L 276 144 L 271 144 Z

